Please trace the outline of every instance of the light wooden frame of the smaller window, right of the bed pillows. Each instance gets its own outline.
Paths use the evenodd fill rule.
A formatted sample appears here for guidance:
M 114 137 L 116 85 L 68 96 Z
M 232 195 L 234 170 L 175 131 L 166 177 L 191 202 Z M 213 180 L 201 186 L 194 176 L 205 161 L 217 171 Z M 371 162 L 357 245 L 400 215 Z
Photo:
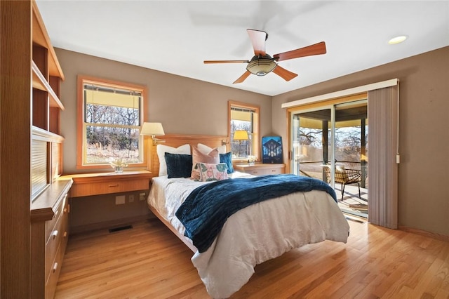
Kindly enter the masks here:
M 229 140 L 229 150 L 232 152 L 232 139 L 231 139 L 231 110 L 232 107 L 237 107 L 237 108 L 241 108 L 241 109 L 251 109 L 254 110 L 254 114 L 255 114 L 255 118 L 253 119 L 253 124 L 252 124 L 252 128 L 253 128 L 253 132 L 251 133 L 252 138 L 251 140 L 253 141 L 253 156 L 257 157 L 257 161 L 262 161 L 262 157 L 260 157 L 260 147 L 261 147 L 261 142 L 262 142 L 262 138 L 260 137 L 260 107 L 257 105 L 253 105 L 253 104 L 249 104 L 246 102 L 236 102 L 234 100 L 229 100 L 228 101 L 228 117 L 227 117 L 227 138 Z M 232 159 L 232 162 L 234 163 L 241 163 L 241 162 L 246 162 L 247 159 L 242 159 L 240 158 L 236 158 L 236 159 Z

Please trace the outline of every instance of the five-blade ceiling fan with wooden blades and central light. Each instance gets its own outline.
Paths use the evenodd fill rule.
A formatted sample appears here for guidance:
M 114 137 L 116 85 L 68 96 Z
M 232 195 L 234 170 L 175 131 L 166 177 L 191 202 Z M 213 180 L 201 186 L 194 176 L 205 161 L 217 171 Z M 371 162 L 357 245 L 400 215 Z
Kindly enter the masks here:
M 274 72 L 279 77 L 286 81 L 290 81 L 295 78 L 297 74 L 284 69 L 279 66 L 276 62 L 282 60 L 288 60 L 293 58 L 300 58 L 310 55 L 319 55 L 326 53 L 326 44 L 324 41 L 319 42 L 311 46 L 304 48 L 298 48 L 296 50 L 275 54 L 272 56 L 265 52 L 265 41 L 268 39 L 267 32 L 256 29 L 246 29 L 248 35 L 250 36 L 251 44 L 254 48 L 254 56 L 251 60 L 204 60 L 204 63 L 248 63 L 246 66 L 246 72 L 236 79 L 233 84 L 241 83 L 245 81 L 250 74 L 255 74 L 257 76 L 265 76 L 269 72 Z

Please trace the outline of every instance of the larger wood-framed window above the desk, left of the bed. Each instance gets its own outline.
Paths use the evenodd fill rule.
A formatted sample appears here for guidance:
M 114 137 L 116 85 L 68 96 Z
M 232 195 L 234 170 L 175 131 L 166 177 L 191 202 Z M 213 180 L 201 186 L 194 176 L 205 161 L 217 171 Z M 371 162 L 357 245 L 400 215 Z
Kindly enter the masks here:
M 145 88 L 79 78 L 77 168 L 107 168 L 115 159 L 146 166 L 140 126 Z

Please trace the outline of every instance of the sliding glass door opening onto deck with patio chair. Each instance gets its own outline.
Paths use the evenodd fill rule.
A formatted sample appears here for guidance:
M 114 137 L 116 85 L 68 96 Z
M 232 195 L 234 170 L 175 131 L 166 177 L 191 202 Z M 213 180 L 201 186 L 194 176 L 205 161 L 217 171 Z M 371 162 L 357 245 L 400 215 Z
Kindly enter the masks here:
M 368 101 L 358 100 L 291 114 L 292 173 L 327 182 L 340 208 L 362 217 L 368 215 L 367 112 Z

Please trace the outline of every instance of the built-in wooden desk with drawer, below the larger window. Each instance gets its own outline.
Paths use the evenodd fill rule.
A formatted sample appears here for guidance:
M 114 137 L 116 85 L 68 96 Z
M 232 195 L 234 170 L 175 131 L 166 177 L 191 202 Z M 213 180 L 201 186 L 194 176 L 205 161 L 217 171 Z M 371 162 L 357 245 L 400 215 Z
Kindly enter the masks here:
M 70 197 L 88 197 L 99 194 L 148 190 L 149 182 L 153 176 L 149 171 L 123 171 L 123 173 L 63 175 L 60 180 L 73 180 Z

